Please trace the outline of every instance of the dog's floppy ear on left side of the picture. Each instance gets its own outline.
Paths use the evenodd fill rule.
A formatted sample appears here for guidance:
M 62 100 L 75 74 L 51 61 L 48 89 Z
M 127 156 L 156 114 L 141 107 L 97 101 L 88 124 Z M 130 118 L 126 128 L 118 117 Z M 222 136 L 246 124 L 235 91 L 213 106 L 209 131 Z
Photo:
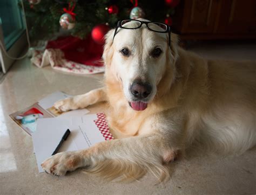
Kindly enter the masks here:
M 113 56 L 113 36 L 114 36 L 114 29 L 110 30 L 109 32 L 106 33 L 105 35 L 105 45 L 104 45 L 104 51 L 102 58 L 104 60 L 104 65 L 110 65 L 112 56 Z

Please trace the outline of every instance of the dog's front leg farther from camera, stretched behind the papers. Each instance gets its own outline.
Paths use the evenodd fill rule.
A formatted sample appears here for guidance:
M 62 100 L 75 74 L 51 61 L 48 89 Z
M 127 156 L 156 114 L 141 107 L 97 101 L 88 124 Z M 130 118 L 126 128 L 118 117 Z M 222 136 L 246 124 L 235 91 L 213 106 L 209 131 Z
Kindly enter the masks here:
M 54 104 L 54 107 L 62 112 L 68 110 L 75 110 L 79 108 L 85 108 L 89 105 L 93 105 L 100 101 L 106 100 L 106 94 L 104 88 L 94 89 L 90 92 L 77 95 L 71 98 L 59 100 Z

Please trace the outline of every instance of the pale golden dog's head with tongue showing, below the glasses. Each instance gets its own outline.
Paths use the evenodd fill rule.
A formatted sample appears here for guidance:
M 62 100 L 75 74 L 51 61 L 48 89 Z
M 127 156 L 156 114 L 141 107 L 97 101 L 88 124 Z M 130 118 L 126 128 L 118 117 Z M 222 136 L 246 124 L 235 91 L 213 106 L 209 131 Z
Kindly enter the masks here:
M 145 24 L 139 29 L 118 29 L 114 39 L 113 36 L 114 30 L 106 34 L 103 53 L 106 75 L 122 84 L 127 103 L 134 110 L 144 110 L 156 96 L 167 67 L 174 68 L 177 37 L 172 35 L 170 48 L 168 33 L 150 31 Z

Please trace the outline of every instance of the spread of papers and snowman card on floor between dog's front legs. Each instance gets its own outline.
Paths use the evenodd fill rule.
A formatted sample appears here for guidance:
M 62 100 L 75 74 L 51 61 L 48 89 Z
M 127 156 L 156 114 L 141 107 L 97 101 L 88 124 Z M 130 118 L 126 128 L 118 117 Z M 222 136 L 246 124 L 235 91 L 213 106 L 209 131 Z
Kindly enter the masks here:
M 71 131 L 58 152 L 86 149 L 91 145 L 113 139 L 107 126 L 105 114 L 89 114 L 87 109 L 61 113 L 53 104 L 70 95 L 55 92 L 31 107 L 14 114 L 11 118 L 32 136 L 39 172 L 41 163 L 55 151 L 65 131 Z

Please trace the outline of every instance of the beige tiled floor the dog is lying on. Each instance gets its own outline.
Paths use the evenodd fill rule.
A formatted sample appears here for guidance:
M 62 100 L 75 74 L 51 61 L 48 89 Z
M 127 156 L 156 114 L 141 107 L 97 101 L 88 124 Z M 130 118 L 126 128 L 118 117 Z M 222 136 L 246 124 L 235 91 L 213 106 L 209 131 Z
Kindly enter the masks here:
M 252 43 L 200 43 L 190 50 L 207 58 L 256 60 Z M 256 76 L 256 75 L 255 75 Z M 148 175 L 139 182 L 104 183 L 77 170 L 65 177 L 38 173 L 31 137 L 9 114 L 56 90 L 82 94 L 100 86 L 103 75 L 75 76 L 17 61 L 0 84 L 0 194 L 184 194 L 256 193 L 256 148 L 238 157 L 195 157 L 172 164 L 171 179 L 159 185 Z

